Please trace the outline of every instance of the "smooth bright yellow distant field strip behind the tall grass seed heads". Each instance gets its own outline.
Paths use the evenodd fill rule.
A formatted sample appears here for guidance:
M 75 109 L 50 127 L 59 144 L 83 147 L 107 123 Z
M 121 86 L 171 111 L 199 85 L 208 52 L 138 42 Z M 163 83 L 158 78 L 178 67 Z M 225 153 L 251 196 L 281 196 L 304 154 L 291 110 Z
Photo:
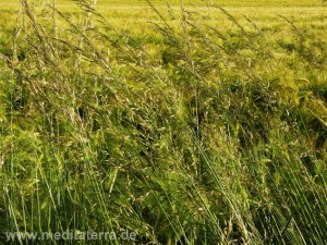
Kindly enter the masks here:
M 41 1 L 34 1 L 39 3 Z M 50 1 L 51 2 L 51 1 Z M 168 2 L 172 10 L 178 11 L 180 9 L 179 1 L 153 1 L 154 4 L 162 10 L 165 16 L 169 16 L 166 2 Z M 214 4 L 223 7 L 235 17 L 240 19 L 240 23 L 244 23 L 244 15 L 255 22 L 258 27 L 262 28 L 280 28 L 286 26 L 277 15 L 283 15 L 290 19 L 292 22 L 299 25 L 299 27 L 308 27 L 313 32 L 322 32 L 320 37 L 326 38 L 326 25 L 327 25 L 327 3 L 322 1 L 213 1 Z M 45 3 L 44 3 L 45 4 Z M 44 5 L 38 4 L 38 5 Z M 69 0 L 57 0 L 56 4 L 59 10 L 64 12 L 78 12 L 76 4 Z M 15 22 L 16 11 L 19 10 L 17 3 L 1 0 L 1 30 L 10 30 Z M 217 10 L 208 10 L 207 4 L 204 1 L 192 1 L 192 4 L 187 1 L 184 5 L 189 7 L 192 11 L 194 8 L 197 10 L 198 15 L 205 20 L 209 20 L 216 25 L 221 27 L 229 27 L 227 19 L 219 14 Z M 192 5 L 192 7 L 190 7 Z M 141 32 L 148 29 L 146 24 L 148 21 L 157 19 L 156 14 L 150 10 L 146 1 L 97 1 L 96 10 L 106 16 L 113 25 L 119 27 L 128 27 L 134 32 Z

